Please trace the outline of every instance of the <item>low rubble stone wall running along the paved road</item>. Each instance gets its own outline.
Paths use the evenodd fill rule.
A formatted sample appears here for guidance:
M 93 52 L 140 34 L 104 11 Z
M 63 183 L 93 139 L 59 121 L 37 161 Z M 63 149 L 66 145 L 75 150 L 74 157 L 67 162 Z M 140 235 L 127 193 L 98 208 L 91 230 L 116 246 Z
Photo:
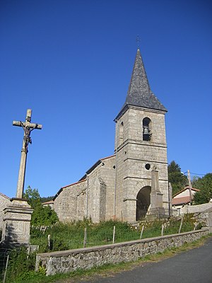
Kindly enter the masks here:
M 166 248 L 179 247 L 184 243 L 196 241 L 207 235 L 208 231 L 208 228 L 204 228 L 198 231 L 115 243 L 107 246 L 40 253 L 37 254 L 36 258 L 36 270 L 43 266 L 47 270 L 47 275 L 54 275 L 59 272 L 71 272 L 78 268 L 90 269 L 109 263 L 134 261 L 145 255 L 163 252 Z

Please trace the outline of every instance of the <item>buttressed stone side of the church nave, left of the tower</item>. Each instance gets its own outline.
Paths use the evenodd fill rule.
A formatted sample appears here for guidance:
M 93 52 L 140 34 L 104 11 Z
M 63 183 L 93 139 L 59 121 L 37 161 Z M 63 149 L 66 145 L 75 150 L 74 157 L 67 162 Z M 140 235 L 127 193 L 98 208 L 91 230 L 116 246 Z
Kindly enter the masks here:
M 115 156 L 102 158 L 78 183 L 62 187 L 54 197 L 60 221 L 93 222 L 112 219 L 114 208 Z

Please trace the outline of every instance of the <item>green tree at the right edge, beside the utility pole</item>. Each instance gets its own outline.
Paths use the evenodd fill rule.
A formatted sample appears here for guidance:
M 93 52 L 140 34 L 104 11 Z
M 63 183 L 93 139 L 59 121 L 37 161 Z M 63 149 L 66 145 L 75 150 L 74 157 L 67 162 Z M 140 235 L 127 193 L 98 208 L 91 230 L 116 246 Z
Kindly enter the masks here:
M 212 198 L 212 173 L 204 175 L 202 178 L 195 178 L 192 181 L 193 186 L 199 189 L 194 195 L 195 204 L 204 204 L 211 200 Z

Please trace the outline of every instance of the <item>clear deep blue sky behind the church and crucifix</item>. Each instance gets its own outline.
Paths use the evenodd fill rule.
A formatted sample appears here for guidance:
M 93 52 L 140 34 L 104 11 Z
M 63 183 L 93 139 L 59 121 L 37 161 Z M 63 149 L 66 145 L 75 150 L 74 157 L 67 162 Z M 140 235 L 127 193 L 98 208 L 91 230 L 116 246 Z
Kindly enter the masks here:
M 211 172 L 211 1 L 0 1 L 0 192 L 16 196 L 23 129 L 25 187 L 55 195 L 114 152 L 136 35 L 151 90 L 165 105 L 168 162 Z M 192 174 L 193 175 L 193 174 Z

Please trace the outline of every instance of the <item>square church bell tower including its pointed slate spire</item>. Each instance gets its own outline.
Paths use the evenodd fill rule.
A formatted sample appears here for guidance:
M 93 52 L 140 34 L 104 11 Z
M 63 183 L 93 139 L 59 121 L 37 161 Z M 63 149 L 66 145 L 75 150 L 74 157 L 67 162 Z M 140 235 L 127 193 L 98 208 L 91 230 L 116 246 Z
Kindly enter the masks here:
M 116 122 L 115 218 L 136 221 L 169 205 L 163 104 L 152 93 L 138 49 Z

